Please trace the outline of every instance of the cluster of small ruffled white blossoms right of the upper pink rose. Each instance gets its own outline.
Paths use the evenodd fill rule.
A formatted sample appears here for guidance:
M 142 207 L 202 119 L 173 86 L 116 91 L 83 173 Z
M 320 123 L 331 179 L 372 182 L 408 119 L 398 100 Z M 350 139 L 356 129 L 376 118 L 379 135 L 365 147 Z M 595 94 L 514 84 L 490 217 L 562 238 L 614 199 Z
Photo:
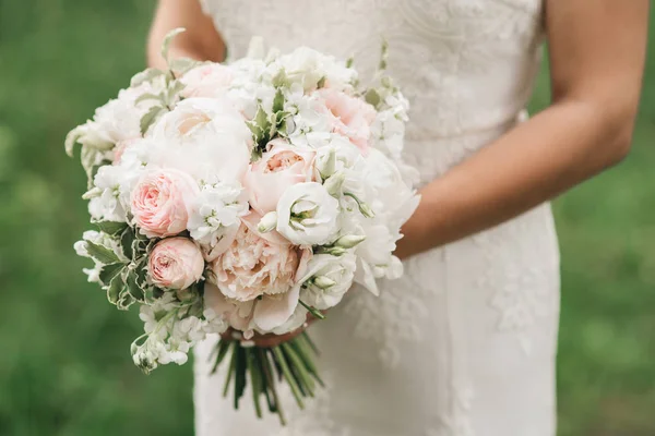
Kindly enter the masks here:
M 218 240 L 248 214 L 248 202 L 239 182 L 204 183 L 191 206 L 188 229 L 191 238 L 214 247 Z

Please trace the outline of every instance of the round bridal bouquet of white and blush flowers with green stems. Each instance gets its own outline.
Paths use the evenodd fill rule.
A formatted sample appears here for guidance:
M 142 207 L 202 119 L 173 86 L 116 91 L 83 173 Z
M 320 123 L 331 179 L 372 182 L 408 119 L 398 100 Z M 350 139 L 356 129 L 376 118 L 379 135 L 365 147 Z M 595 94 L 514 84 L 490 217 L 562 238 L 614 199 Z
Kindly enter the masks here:
M 383 73 L 359 85 L 352 62 L 309 48 L 230 64 L 168 59 L 67 137 L 81 145 L 91 221 L 75 244 L 88 280 L 120 310 L 140 307 L 131 347 L 148 373 L 183 364 L 223 335 L 235 405 L 250 384 L 279 414 L 275 380 L 302 407 L 322 384 L 306 334 L 284 335 L 337 305 L 354 282 L 396 278 L 401 225 L 418 203 L 401 160 L 407 102 Z M 383 50 L 384 52 L 384 50 Z M 227 332 L 226 332 L 227 331 Z

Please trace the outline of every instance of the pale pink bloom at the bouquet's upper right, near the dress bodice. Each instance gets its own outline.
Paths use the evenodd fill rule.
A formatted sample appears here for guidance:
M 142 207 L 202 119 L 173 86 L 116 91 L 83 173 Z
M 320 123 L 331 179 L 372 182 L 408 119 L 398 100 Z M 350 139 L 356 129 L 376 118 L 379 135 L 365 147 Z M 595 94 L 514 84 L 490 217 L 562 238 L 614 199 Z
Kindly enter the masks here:
M 376 109 L 360 98 L 333 88 L 322 88 L 317 93 L 323 97 L 325 106 L 336 119 L 335 131 L 347 136 L 366 155 Z

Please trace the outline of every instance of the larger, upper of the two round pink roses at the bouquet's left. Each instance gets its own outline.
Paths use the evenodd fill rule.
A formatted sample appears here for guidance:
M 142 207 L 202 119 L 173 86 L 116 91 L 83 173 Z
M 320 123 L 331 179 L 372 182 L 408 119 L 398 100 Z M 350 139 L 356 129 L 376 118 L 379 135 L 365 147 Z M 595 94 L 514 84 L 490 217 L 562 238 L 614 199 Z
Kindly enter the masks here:
M 189 205 L 198 193 L 198 184 L 186 172 L 148 171 L 132 190 L 134 222 L 148 238 L 178 234 L 187 228 Z

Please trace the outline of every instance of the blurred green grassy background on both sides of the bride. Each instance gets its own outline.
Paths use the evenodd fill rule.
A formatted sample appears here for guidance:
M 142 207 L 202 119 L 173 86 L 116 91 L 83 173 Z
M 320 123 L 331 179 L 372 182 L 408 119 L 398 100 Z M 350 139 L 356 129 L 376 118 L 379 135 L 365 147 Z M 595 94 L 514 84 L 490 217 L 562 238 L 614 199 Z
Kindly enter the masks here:
M 0 0 L 0 435 L 192 434 L 191 366 L 143 376 L 135 314 L 85 282 L 72 250 L 88 225 L 63 137 L 143 68 L 153 4 Z M 561 436 L 655 435 L 651 53 L 633 153 L 556 202 Z M 545 72 L 533 110 L 547 104 Z

